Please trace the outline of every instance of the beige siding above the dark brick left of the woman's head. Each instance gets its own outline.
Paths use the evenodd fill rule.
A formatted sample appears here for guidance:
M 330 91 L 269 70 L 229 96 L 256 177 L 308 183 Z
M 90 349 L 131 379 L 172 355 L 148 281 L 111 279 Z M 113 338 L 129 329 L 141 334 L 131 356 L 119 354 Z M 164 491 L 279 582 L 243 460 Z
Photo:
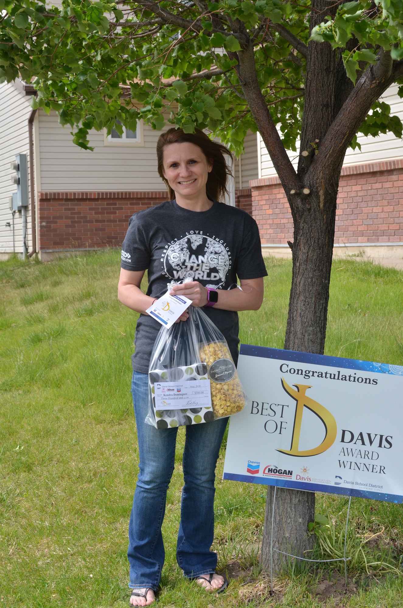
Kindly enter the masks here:
M 171 125 L 167 125 L 169 128 Z M 103 132 L 91 131 L 94 151 L 72 143 L 71 128 L 56 112 L 39 112 L 42 192 L 165 190 L 159 178 L 155 147 L 160 131 L 144 125 L 144 146 L 105 146 Z

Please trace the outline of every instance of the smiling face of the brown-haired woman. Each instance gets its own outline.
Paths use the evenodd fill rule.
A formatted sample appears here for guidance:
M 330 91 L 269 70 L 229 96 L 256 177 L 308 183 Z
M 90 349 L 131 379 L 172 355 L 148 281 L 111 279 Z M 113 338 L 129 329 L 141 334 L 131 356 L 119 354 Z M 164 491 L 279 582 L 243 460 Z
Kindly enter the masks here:
M 184 198 L 206 194 L 211 170 L 212 164 L 194 143 L 170 143 L 164 148 L 164 177 L 172 190 Z

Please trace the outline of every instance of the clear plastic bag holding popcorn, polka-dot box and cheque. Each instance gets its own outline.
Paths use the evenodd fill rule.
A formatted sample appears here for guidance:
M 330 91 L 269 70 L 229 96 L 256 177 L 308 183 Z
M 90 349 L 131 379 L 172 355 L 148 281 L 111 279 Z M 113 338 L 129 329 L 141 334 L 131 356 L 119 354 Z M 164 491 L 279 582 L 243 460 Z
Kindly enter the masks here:
M 200 308 L 161 328 L 149 367 L 149 413 L 157 429 L 201 424 L 244 409 L 240 384 L 225 337 Z

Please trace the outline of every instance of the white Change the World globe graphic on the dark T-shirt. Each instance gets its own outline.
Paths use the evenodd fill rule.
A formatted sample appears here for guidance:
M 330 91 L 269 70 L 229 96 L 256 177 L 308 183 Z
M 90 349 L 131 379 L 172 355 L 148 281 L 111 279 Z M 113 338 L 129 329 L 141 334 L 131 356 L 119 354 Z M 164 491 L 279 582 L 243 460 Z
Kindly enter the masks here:
M 166 275 L 175 281 L 191 278 L 205 287 L 219 288 L 225 283 L 230 257 L 223 243 L 205 235 L 187 235 L 164 250 Z

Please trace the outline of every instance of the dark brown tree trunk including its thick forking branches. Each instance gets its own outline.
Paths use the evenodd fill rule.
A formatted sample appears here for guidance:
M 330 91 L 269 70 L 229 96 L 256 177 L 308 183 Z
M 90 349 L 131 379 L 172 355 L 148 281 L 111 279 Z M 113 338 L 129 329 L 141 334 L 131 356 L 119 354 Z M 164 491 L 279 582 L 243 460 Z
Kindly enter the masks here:
M 327 0 L 312 0 L 311 4 L 311 29 L 337 9 L 337 3 L 329 6 Z M 234 25 L 245 35 L 242 22 L 235 19 Z M 377 64 L 368 67 L 353 88 L 345 74 L 340 49 L 310 41 L 307 50 L 302 45 L 300 52 L 306 52 L 307 69 L 297 173 L 259 87 L 253 45 L 244 44 L 230 57 L 239 62 L 235 69 L 245 100 L 286 192 L 294 221 L 294 240 L 289 243 L 293 271 L 284 348 L 323 354 L 337 190 L 345 152 L 373 103 L 397 74 L 401 76 L 403 62 L 394 68 L 390 54 L 380 50 Z M 279 551 L 303 557 L 313 547 L 307 524 L 314 519 L 315 494 L 277 488 L 273 517 L 274 494 L 275 489 L 269 486 L 261 561 L 264 570 L 270 570 L 273 561 L 273 571 L 278 572 L 289 559 Z M 271 559 L 272 548 L 275 551 Z

